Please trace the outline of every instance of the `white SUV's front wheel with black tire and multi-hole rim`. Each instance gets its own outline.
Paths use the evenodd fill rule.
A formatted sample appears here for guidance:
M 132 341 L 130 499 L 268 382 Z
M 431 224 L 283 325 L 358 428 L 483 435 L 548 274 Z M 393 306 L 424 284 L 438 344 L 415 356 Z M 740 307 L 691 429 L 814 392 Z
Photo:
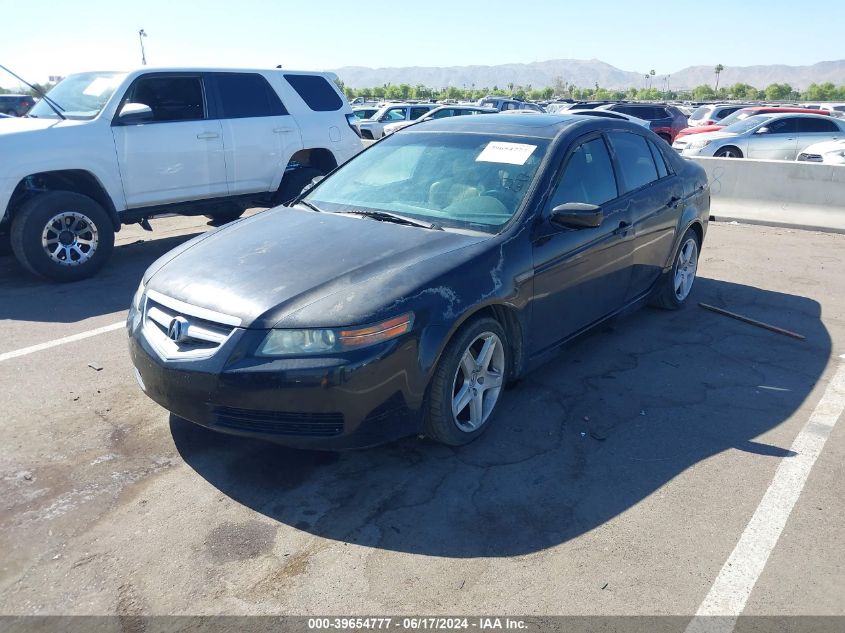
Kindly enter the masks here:
M 48 191 L 26 202 L 12 219 L 12 250 L 30 272 L 55 281 L 96 273 L 114 248 L 114 225 L 88 196 Z

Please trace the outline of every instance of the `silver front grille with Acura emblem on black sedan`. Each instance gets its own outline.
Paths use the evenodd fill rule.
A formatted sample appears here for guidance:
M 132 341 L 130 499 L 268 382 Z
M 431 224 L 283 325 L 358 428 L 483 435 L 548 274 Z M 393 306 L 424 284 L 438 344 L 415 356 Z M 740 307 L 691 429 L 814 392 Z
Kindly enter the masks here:
M 144 335 L 167 359 L 207 358 L 232 335 L 240 319 L 191 306 L 155 291 L 144 301 Z M 178 323 L 176 323 L 178 322 Z M 175 334 L 174 324 L 181 334 Z

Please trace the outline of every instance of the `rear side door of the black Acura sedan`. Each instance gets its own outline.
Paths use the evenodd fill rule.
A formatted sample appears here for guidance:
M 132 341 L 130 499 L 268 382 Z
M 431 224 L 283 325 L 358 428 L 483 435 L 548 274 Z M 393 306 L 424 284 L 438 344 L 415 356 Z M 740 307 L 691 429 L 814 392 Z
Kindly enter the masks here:
M 660 150 L 633 132 L 607 135 L 632 226 L 631 281 L 626 300 L 647 292 L 669 259 L 684 188 Z

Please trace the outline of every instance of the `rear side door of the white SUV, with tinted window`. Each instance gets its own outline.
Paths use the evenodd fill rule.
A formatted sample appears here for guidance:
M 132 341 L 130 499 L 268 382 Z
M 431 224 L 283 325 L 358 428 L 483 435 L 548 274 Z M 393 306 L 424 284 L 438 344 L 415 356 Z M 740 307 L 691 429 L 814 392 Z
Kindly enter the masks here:
M 208 73 L 205 80 L 223 130 L 229 194 L 273 190 L 301 147 L 296 121 L 259 73 Z

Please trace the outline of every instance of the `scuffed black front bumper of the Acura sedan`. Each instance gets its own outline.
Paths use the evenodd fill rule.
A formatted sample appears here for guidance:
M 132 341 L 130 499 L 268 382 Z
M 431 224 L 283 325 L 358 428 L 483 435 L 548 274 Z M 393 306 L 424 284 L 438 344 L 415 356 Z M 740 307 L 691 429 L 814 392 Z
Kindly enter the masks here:
M 252 355 L 266 331 L 237 329 L 209 358 L 167 360 L 139 321 L 130 314 L 141 388 L 196 424 L 321 450 L 374 446 L 421 429 L 425 382 L 411 334 L 331 358 L 271 359 Z

